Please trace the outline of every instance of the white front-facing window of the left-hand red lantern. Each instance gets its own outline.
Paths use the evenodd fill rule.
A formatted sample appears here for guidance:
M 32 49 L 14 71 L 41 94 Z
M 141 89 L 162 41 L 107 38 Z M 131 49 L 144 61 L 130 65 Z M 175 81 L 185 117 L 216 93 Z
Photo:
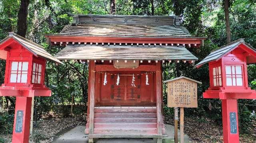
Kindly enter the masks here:
M 28 62 L 13 61 L 11 65 L 10 82 L 26 83 L 28 79 Z

